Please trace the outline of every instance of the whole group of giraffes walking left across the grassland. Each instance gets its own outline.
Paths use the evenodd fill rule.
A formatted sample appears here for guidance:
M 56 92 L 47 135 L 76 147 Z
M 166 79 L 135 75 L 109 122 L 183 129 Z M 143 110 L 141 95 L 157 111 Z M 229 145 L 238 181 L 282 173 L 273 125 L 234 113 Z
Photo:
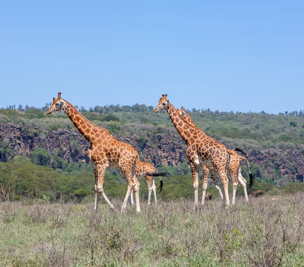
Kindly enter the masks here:
M 47 111 L 47 115 L 54 111 L 64 111 L 67 117 L 71 120 L 78 131 L 87 139 L 90 147 L 87 151 L 87 156 L 93 166 L 95 176 L 95 205 L 94 211 L 98 210 L 99 194 L 104 198 L 111 209 L 114 206 L 106 197 L 103 190 L 104 174 L 108 167 L 119 168 L 124 178 L 127 181 L 128 189 L 124 199 L 121 211 L 126 209 L 128 199 L 131 195 L 133 201 L 133 191 L 135 193 L 136 211 L 140 212 L 139 203 L 139 182 L 138 179 L 144 177 L 148 186 L 148 204 L 150 204 L 151 192 L 154 192 L 155 203 L 157 203 L 155 177 L 168 176 L 167 172 L 158 172 L 156 168 L 148 162 L 139 159 L 138 152 L 130 144 L 121 142 L 113 137 L 108 130 L 96 126 L 86 119 L 73 105 L 61 98 L 61 93 L 58 93 L 57 99 L 53 98 L 53 103 Z M 214 181 L 215 187 L 221 199 L 226 205 L 230 205 L 228 194 L 228 178 L 229 171 L 233 184 L 233 199 L 232 204 L 235 204 L 236 189 L 238 181 L 244 189 L 245 199 L 248 201 L 246 180 L 241 174 L 241 160 L 245 160 L 248 164 L 246 154 L 239 148 L 228 149 L 223 144 L 215 139 L 207 136 L 193 122 L 188 113 L 181 107 L 176 109 L 167 99 L 167 95 L 162 95 L 155 112 L 166 110 L 171 118 L 177 132 L 187 144 L 186 156 L 190 163 L 190 168 L 193 176 L 193 185 L 195 189 L 194 208 L 198 207 L 198 187 L 199 187 L 199 167 L 203 167 L 203 196 L 202 204 L 204 204 L 205 194 L 207 190 L 208 174 Z M 245 155 L 241 157 L 236 151 L 240 151 Z M 218 186 L 217 174 L 223 184 L 224 194 Z M 251 186 L 253 178 L 249 176 Z M 162 189 L 162 179 L 160 189 Z

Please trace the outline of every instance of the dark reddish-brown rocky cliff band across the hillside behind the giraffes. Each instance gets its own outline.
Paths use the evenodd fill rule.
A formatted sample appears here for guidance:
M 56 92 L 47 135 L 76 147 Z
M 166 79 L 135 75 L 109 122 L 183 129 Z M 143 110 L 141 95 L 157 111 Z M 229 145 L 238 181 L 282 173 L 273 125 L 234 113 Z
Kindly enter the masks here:
M 143 131 L 141 138 L 135 135 L 114 135 L 118 140 L 135 147 L 142 160 L 150 161 L 156 167 L 188 162 L 185 156 L 186 145 L 177 132 L 150 136 L 147 131 Z M 76 129 L 46 131 L 14 123 L 0 125 L 1 161 L 7 161 L 14 155 L 29 156 L 37 147 L 48 150 L 51 155 L 57 154 L 68 163 L 88 162 L 88 142 Z M 281 175 L 294 181 L 303 179 L 304 151 L 271 148 L 246 152 L 251 163 L 261 166 L 264 176 L 276 179 Z

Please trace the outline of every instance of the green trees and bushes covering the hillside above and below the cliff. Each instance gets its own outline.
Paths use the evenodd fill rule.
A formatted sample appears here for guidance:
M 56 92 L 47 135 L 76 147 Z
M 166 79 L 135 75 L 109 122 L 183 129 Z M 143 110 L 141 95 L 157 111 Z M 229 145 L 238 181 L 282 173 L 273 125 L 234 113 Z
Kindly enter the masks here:
M 41 143 L 50 138 L 49 132 L 57 134 L 71 129 L 77 132 L 73 124 L 63 113 L 56 113 L 46 116 L 49 103 L 39 109 L 35 107 L 9 106 L 0 109 L 0 125 L 12 123 L 12 131 L 22 129 L 22 135 L 28 138 L 27 142 L 39 139 Z M 179 138 L 171 120 L 166 112 L 159 112 L 155 115 L 153 106 L 135 104 L 132 106 L 108 105 L 95 106 L 86 110 L 80 108 L 83 115 L 94 124 L 102 126 L 110 131 L 111 134 L 122 140 L 124 137 L 134 137 L 134 143 L 139 151 L 142 160 L 150 157 L 150 162 L 156 162 L 160 143 L 159 138 L 168 136 L 175 137 L 175 147 L 182 147 L 183 141 Z M 289 190 L 302 190 L 299 186 L 292 185 L 297 173 L 298 166 L 292 157 L 294 155 L 285 154 L 280 158 L 283 150 L 293 149 L 296 153 L 304 153 L 304 113 L 300 110 L 284 112 L 279 115 L 270 115 L 264 111 L 260 113 L 242 112 L 219 112 L 209 109 L 189 111 L 196 124 L 208 135 L 223 142 L 229 148 L 241 147 L 246 151 L 253 151 L 254 157 L 250 157 L 251 171 L 255 177 L 256 184 L 253 189 L 262 189 L 265 194 L 282 194 Z M 20 130 L 21 131 L 21 130 Z M 61 134 L 61 133 L 60 133 Z M 60 134 L 56 142 L 61 142 Z M 62 149 L 56 148 L 47 150 L 48 147 L 32 147 L 28 159 L 24 156 L 16 156 L 14 150 L 15 140 L 12 140 L 12 132 L 0 136 L 0 184 L 4 188 L 10 184 L 10 193 L 7 194 L 8 200 L 19 200 L 23 198 L 40 198 L 41 192 L 49 192 L 55 198 L 49 197 L 52 202 L 63 198 L 82 199 L 75 196 L 75 192 L 80 189 L 86 190 L 91 196 L 94 192 L 94 177 L 90 164 L 77 160 L 83 151 L 77 139 L 69 137 L 68 145 L 64 149 L 70 152 L 70 158 L 64 158 Z M 169 139 L 168 138 L 168 139 Z M 172 141 L 173 142 L 173 141 Z M 132 145 L 134 145 L 132 143 Z M 153 154 L 150 153 L 153 149 Z M 265 160 L 261 166 L 260 151 L 265 154 L 270 151 L 274 155 L 272 161 Z M 18 154 L 17 154 L 18 155 Z M 177 166 L 158 166 L 157 169 L 168 171 L 171 178 L 164 179 L 164 189 L 160 194 L 163 199 L 176 199 L 179 197 L 193 197 L 193 181 L 188 162 L 186 159 L 179 159 L 180 165 Z M 161 161 L 159 161 L 161 162 Z M 284 164 L 284 166 L 283 166 Z M 15 172 L 18 176 L 15 179 Z M 48 175 L 43 175 L 43 172 Z M 248 177 L 247 167 L 242 167 L 242 174 Z M 53 177 L 54 183 L 49 181 Z M 292 177 L 292 179 L 291 179 Z M 202 179 L 202 174 L 200 174 Z M 108 170 L 105 177 L 105 192 L 108 196 L 123 196 L 126 191 L 125 180 L 118 170 Z M 158 180 L 157 180 L 158 183 Z M 240 187 L 240 186 L 239 186 Z M 216 190 L 210 186 L 210 191 L 217 194 Z M 182 192 L 182 193 L 181 193 Z M 142 198 L 147 196 L 144 181 L 141 181 L 140 194 Z M 238 194 L 243 194 L 238 189 Z

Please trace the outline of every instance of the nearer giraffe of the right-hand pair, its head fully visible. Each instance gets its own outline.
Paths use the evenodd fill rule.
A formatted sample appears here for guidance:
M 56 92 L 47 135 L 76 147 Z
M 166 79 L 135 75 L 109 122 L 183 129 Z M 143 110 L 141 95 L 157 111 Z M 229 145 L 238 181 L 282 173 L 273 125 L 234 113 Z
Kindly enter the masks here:
M 186 156 L 190 162 L 194 185 L 194 207 L 198 207 L 199 167 L 205 165 L 213 167 L 218 173 L 224 187 L 225 204 L 230 205 L 228 195 L 227 167 L 229 166 L 230 155 L 233 151 L 227 149 L 223 144 L 207 136 L 199 128 L 189 125 L 178 113 L 178 110 L 169 102 L 167 95 L 163 95 L 155 112 L 166 110 L 171 118 L 177 132 L 187 144 Z

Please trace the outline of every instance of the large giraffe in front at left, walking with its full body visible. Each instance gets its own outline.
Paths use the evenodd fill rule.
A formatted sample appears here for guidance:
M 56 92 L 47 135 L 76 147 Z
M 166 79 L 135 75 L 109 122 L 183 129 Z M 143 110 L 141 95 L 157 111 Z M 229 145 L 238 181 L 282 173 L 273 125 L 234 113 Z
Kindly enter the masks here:
M 105 171 L 107 167 L 111 167 L 119 168 L 128 184 L 127 194 L 121 211 L 123 212 L 126 209 L 128 198 L 133 189 L 135 192 L 136 211 L 140 212 L 140 184 L 134 174 L 136 163 L 140 165 L 139 155 L 136 149 L 130 144 L 118 141 L 110 135 L 108 130 L 91 123 L 73 105 L 65 99 L 62 99 L 61 93 L 58 93 L 57 99 L 55 97 L 53 98 L 53 103 L 47 111 L 47 115 L 60 110 L 65 111 L 67 117 L 90 144 L 87 156 L 93 166 L 95 176 L 96 194 L 94 211 L 97 212 L 99 194 L 101 194 L 109 207 L 114 209 L 114 206 L 108 200 L 103 190 Z M 155 173 L 149 175 L 158 176 L 158 174 Z

